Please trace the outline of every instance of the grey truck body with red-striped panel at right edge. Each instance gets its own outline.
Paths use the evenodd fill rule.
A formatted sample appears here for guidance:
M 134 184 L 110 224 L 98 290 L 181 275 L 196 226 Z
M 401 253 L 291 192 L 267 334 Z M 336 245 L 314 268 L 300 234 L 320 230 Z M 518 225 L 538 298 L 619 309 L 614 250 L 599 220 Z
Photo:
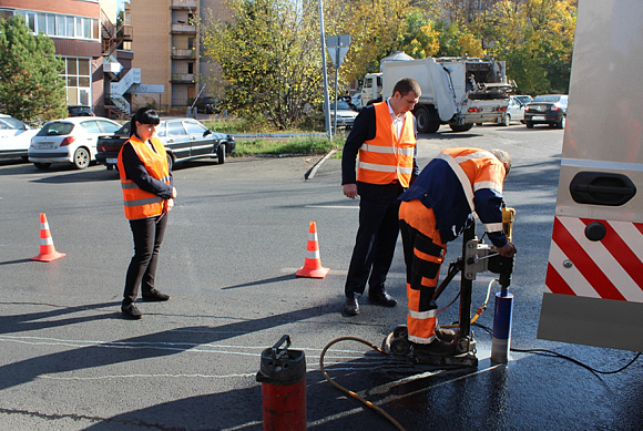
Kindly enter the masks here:
M 539 338 L 643 351 L 641 22 L 641 0 L 579 1 Z

